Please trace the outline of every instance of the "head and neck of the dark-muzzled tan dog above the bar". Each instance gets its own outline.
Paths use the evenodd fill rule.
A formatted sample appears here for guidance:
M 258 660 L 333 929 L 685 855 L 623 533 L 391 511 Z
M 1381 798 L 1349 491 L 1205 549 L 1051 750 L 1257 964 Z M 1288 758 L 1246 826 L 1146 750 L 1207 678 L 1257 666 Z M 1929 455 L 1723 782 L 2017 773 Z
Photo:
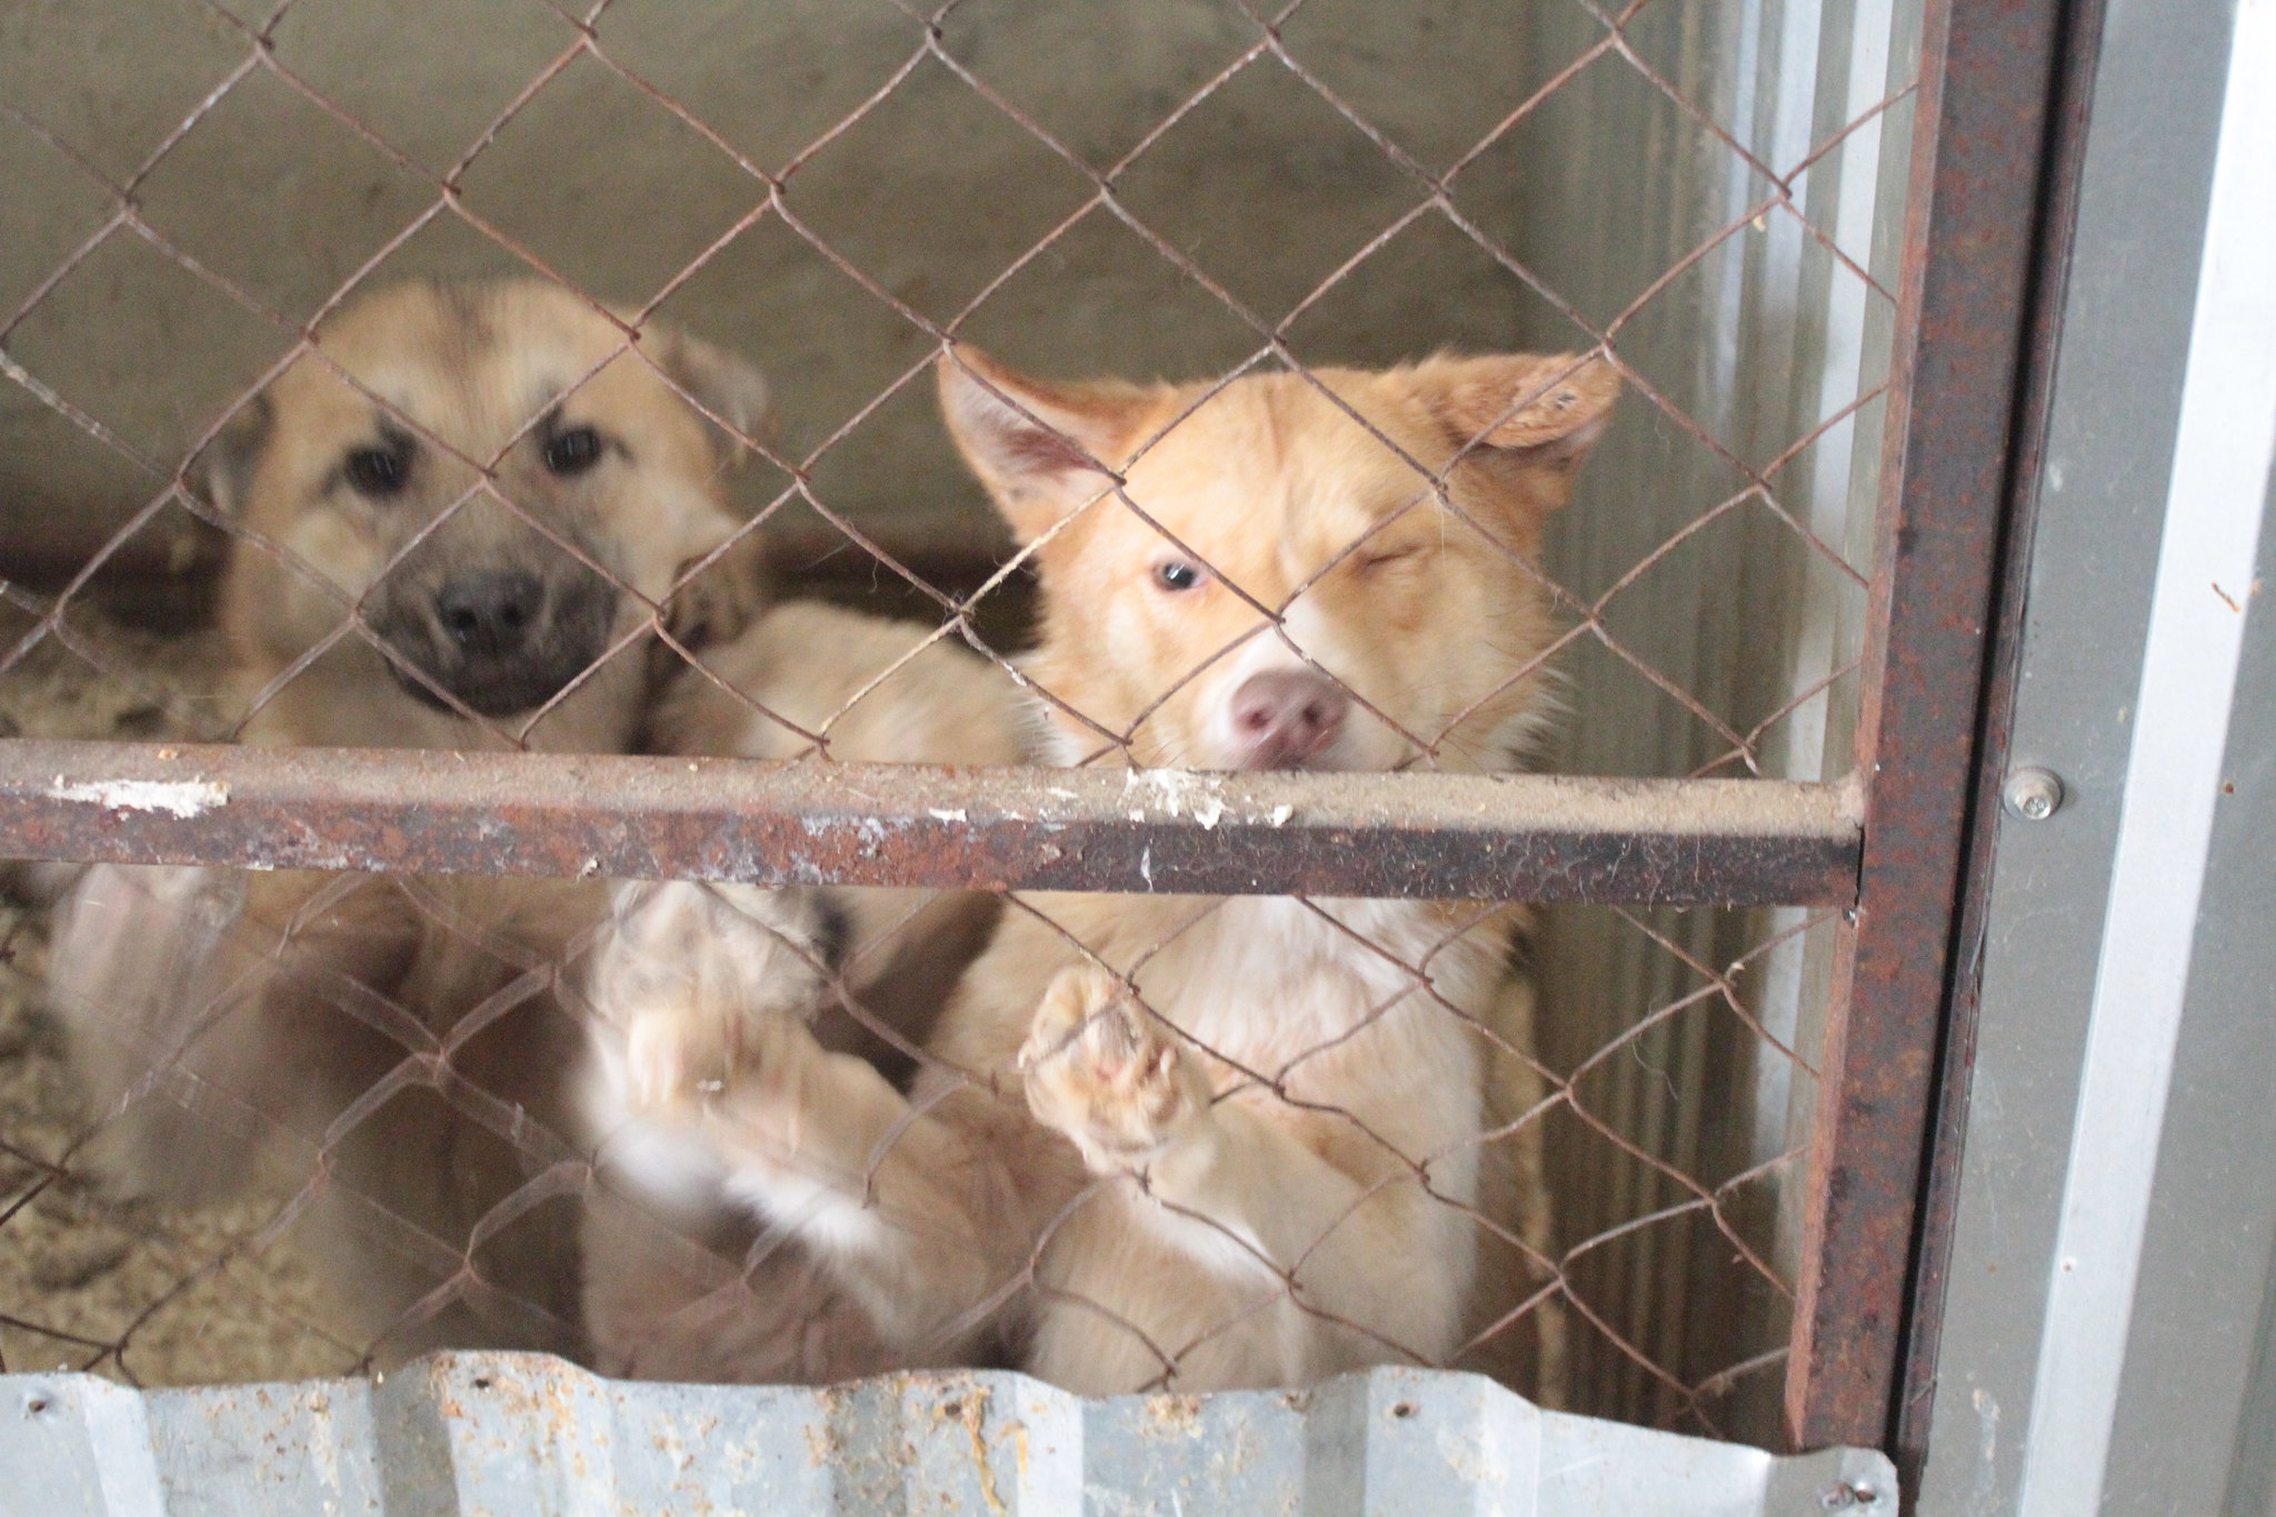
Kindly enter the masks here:
M 624 748 L 651 687 L 628 641 L 737 525 L 721 473 L 740 448 L 674 387 L 749 437 L 760 375 L 669 328 L 628 353 L 615 321 L 535 282 L 387 289 L 319 348 L 205 469 L 250 539 L 221 598 L 246 705 L 323 648 L 246 741 Z M 492 459 L 485 489 L 469 462 Z M 371 637 L 339 637 L 351 603 Z M 731 635 L 749 610 L 747 573 L 706 575 L 669 625 Z

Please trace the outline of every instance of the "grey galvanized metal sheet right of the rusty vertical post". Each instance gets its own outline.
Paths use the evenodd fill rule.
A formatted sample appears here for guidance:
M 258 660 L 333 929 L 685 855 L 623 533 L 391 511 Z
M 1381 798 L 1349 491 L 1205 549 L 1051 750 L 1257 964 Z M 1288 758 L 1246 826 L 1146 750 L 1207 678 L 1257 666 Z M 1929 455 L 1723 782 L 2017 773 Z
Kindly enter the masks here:
M 1980 1021 L 1960 1028 L 1939 1142 L 1951 1262 L 1928 1285 L 1941 1335 L 1919 1349 L 1905 1456 L 1919 1508 L 2021 1510 L 2042 1421 L 2048 1292 L 2078 1130 L 2089 1010 L 2142 712 L 2144 646 L 2201 291 L 2230 36 L 2226 0 L 2110 0 L 2092 59 L 2076 252 L 2062 296 L 2042 503 L 2028 562 L 2012 762 L 2055 771 L 2062 810 L 2005 819 L 1982 912 Z M 2087 93 L 2087 91 L 2083 91 Z M 2269 505 L 2276 512 L 2276 503 Z M 2271 516 L 2276 519 L 2276 516 Z M 2262 562 L 2269 555 L 2262 537 Z M 2205 585 L 2205 596 L 2212 587 Z M 2269 789 L 2276 723 L 2246 600 L 2246 664 L 2203 876 L 2196 948 L 2158 1130 L 2151 1228 L 2130 1292 L 2119 1396 L 2105 1412 L 2105 1512 L 2267 1512 L 2269 1417 L 2256 1365 L 2276 1237 L 2269 1008 Z M 2258 680 L 2258 682 L 2256 682 Z M 2171 871 L 2174 892 L 2190 876 Z M 2139 1110 L 2164 1085 L 2149 1078 Z M 1957 1119 L 1964 1119 L 1957 1121 Z M 1964 1139 L 1964 1144 L 1962 1144 Z M 1928 1358 L 1932 1353 L 1932 1358 Z M 2276 1421 L 2276 1419 L 2271 1419 Z M 2258 1424 L 2258 1426 L 2256 1426 Z M 2094 1426 L 2092 1417 L 2064 1426 Z M 2267 1467 L 2256 1467 L 2269 1460 Z M 2064 1467 L 2076 1465 L 2076 1460 Z

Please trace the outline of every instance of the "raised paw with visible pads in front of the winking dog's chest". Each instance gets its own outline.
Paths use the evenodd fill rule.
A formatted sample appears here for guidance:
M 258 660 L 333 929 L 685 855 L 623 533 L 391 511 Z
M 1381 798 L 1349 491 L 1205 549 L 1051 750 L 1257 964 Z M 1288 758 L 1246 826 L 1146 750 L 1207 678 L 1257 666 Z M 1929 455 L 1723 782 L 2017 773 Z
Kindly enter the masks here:
M 1129 989 L 1095 964 L 1063 969 L 1020 1051 L 1026 1105 L 1095 1174 L 1161 1158 L 1209 1114 L 1209 1078 Z

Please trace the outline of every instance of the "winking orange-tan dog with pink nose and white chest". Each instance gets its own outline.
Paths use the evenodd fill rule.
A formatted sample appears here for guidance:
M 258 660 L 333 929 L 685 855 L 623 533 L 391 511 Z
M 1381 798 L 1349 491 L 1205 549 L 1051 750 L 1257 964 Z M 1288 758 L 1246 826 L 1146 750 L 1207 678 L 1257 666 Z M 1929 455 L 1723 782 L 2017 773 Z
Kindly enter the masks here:
M 1318 380 L 1334 396 L 942 366 L 965 457 L 1040 544 L 1026 673 L 1090 719 L 1052 707 L 1061 762 L 1495 771 L 1539 737 L 1552 625 L 1529 562 L 1616 375 L 1482 357 Z M 1516 907 L 1026 905 L 906 1099 L 762 1003 L 721 1037 L 640 980 L 603 1001 L 658 1078 L 619 1094 L 701 1124 L 724 1187 L 803 1240 L 899 1362 L 1008 1358 L 1106 1394 L 1484 1340 L 1484 1362 L 1555 1385 L 1545 1312 L 1529 1346 L 1495 1333 L 1548 1278 Z M 699 1046 L 658 1053 L 676 1039 Z

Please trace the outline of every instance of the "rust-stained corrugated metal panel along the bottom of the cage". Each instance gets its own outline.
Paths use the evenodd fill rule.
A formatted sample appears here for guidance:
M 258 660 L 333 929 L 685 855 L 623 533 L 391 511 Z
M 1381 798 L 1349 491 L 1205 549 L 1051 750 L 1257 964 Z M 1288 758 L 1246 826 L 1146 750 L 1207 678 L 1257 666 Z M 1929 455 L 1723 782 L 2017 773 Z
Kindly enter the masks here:
M 646 1385 L 535 1353 L 152 1392 L 18 1374 L 0 1376 L 0 1510 L 41 1517 L 1896 1517 L 1880 1453 L 1773 1458 L 1422 1369 L 1111 1401 L 1006 1371 Z

